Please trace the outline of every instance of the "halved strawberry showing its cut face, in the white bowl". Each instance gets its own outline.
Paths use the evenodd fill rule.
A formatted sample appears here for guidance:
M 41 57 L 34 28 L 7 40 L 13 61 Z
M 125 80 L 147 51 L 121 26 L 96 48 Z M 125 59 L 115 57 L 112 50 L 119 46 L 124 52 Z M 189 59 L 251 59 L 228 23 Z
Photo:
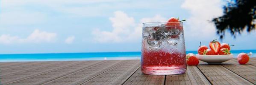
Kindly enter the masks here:
M 215 53 L 215 54 L 218 54 L 218 51 L 220 50 L 221 48 L 221 44 L 220 42 L 216 41 L 217 39 L 215 40 L 212 40 L 210 43 L 209 43 L 209 47 L 212 49 L 212 51 Z

